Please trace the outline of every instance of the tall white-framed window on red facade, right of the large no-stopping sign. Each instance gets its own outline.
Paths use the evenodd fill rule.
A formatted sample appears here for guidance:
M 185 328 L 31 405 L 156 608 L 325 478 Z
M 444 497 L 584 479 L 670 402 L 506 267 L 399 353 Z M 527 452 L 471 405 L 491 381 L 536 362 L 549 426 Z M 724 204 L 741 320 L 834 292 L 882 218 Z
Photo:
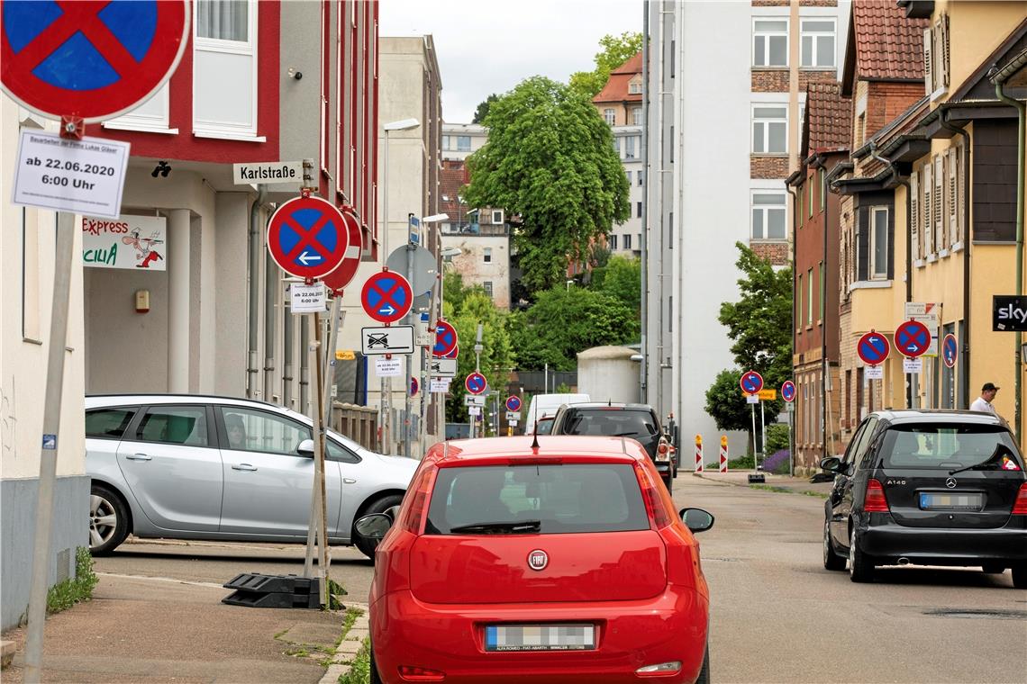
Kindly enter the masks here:
M 203 137 L 258 139 L 257 2 L 197 0 L 193 128 Z

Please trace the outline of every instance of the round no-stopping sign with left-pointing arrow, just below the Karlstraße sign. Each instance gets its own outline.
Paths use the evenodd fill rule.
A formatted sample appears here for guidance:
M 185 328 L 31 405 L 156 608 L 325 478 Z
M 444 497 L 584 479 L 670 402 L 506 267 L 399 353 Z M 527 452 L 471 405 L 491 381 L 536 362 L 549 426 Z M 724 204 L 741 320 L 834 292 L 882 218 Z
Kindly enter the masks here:
M 349 233 L 342 212 L 319 197 L 295 197 L 271 216 L 267 249 L 286 273 L 297 278 L 320 278 L 342 263 Z

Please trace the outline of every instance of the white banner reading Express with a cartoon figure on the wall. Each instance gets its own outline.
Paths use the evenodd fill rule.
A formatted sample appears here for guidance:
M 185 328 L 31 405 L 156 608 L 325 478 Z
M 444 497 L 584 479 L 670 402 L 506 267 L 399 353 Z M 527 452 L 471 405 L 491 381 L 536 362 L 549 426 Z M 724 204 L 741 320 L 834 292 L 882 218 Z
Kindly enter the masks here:
M 82 216 L 82 266 L 166 271 L 163 216 Z

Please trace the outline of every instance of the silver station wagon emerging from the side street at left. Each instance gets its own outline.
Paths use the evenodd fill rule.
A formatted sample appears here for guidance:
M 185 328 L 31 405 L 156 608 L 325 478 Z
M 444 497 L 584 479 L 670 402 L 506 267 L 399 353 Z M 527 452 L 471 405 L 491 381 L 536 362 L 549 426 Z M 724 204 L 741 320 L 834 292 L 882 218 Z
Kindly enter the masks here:
M 304 541 L 310 518 L 310 419 L 246 399 L 189 395 L 85 400 L 85 471 L 92 479 L 89 549 L 141 537 Z M 384 456 L 334 432 L 326 440 L 328 536 L 397 507 L 417 461 Z

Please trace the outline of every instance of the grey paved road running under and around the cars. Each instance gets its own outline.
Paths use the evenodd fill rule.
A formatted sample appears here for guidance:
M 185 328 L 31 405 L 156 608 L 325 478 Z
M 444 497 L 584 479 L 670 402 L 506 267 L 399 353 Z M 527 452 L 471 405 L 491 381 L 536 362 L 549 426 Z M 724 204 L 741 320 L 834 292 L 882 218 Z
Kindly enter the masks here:
M 854 585 L 823 569 L 823 498 L 684 473 L 674 498 L 717 517 L 699 536 L 715 681 L 1027 683 L 1027 592 L 1013 589 L 1009 571 L 895 568 Z M 220 585 L 239 572 L 301 573 L 303 551 L 129 544 L 97 569 Z M 332 556 L 333 578 L 366 601 L 370 562 L 352 548 Z

